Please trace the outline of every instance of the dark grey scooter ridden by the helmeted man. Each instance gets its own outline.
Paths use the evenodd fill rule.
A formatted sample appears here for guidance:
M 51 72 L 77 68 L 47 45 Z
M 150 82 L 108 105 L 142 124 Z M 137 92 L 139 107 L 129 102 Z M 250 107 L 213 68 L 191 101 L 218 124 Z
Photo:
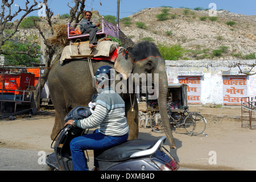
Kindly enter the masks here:
M 89 107 L 77 106 L 72 109 L 64 121 L 69 119 L 80 119 L 90 115 Z M 89 131 L 89 130 L 88 130 Z M 52 154 L 47 155 L 47 170 L 51 171 L 73 171 L 73 163 L 69 143 L 75 137 L 87 134 L 88 131 L 74 127 L 65 126 L 56 135 L 59 136 L 52 147 Z M 152 141 L 149 139 L 127 140 L 118 146 L 114 146 L 97 156 L 101 171 L 176 171 L 179 163 L 176 162 L 171 153 L 163 146 L 166 136 Z M 88 153 L 87 159 L 89 159 Z

